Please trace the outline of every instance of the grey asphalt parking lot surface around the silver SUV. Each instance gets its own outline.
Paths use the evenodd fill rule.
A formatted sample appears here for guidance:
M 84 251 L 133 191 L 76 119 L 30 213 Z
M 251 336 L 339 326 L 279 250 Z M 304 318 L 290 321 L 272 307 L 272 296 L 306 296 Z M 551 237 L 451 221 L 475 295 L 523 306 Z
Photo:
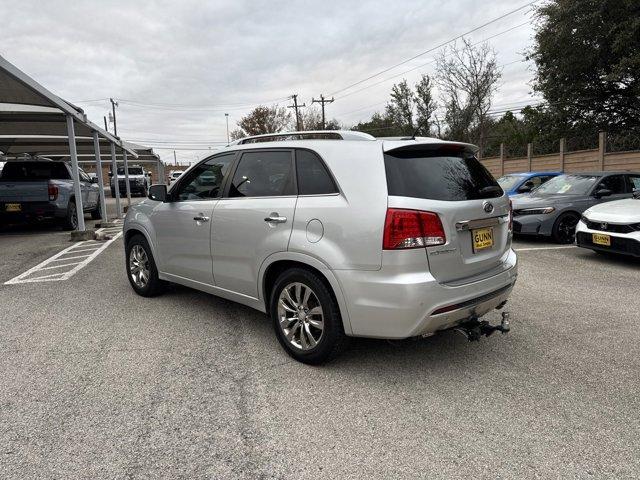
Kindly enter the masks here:
M 640 475 L 640 262 L 518 240 L 508 335 L 356 340 L 309 367 L 249 308 L 136 296 L 121 241 L 4 285 L 67 235 L 0 235 L 2 478 Z

